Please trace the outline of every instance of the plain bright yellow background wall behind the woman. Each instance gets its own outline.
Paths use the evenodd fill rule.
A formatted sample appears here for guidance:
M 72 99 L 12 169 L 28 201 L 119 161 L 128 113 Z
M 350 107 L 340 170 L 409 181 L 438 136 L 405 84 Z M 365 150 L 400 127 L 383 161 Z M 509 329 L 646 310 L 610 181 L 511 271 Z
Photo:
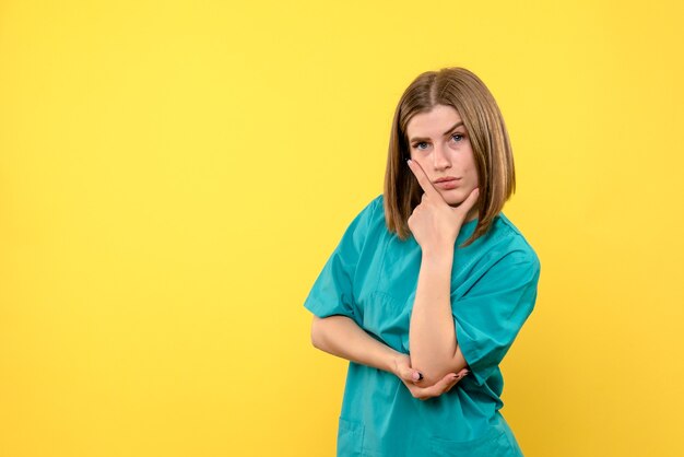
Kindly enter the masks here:
M 446 66 L 542 262 L 526 455 L 684 455 L 682 8 L 2 1 L 0 455 L 332 456 L 346 362 L 302 305 Z

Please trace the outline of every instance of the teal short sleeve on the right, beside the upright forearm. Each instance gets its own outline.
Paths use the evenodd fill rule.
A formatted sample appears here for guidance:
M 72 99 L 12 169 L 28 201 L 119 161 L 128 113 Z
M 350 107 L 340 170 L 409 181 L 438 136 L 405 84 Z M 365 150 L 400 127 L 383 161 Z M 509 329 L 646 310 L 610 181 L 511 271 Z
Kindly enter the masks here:
M 533 251 L 508 253 L 453 303 L 456 339 L 477 384 L 494 373 L 532 313 L 540 271 Z

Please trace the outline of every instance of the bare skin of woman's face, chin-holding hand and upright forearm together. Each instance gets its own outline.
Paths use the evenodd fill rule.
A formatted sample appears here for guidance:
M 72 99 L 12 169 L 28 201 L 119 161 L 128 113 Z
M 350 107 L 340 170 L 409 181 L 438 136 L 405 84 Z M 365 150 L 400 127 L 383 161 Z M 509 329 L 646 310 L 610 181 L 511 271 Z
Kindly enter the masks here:
M 468 366 L 456 340 L 450 280 L 453 246 L 462 224 L 477 214 L 479 189 L 465 128 L 450 130 L 459 121 L 456 109 L 438 105 L 414 116 L 406 128 L 412 156 L 409 166 L 424 190 L 408 221 L 423 251 L 409 344 L 412 367 L 424 374 L 427 384 Z M 434 180 L 443 176 L 459 178 L 457 187 L 436 186 Z

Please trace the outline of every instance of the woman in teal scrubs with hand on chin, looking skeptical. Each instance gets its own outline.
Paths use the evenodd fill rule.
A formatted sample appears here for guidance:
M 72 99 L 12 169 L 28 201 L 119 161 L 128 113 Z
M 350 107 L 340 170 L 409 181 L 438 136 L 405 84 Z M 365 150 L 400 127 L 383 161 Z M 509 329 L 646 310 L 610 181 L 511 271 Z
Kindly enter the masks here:
M 314 345 L 350 361 L 338 456 L 522 455 L 498 365 L 534 307 L 540 261 L 502 212 L 514 191 L 484 83 L 463 68 L 418 75 L 394 113 L 384 194 L 304 304 Z

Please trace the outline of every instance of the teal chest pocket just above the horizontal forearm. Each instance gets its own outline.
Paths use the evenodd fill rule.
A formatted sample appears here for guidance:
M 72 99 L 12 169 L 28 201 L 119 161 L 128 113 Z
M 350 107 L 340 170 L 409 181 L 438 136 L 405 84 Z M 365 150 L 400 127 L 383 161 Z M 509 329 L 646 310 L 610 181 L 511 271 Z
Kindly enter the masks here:
M 409 352 L 409 325 L 413 302 L 406 303 L 382 291 L 361 301 L 363 328 L 396 351 Z

